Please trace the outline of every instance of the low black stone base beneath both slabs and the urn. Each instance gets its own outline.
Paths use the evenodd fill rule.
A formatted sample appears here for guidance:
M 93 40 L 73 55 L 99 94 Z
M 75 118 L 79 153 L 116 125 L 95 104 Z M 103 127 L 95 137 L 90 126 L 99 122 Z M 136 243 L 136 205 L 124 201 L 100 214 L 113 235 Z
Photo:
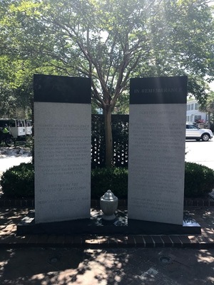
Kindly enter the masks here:
M 17 225 L 17 235 L 25 234 L 201 234 L 200 224 L 184 214 L 183 225 L 128 219 L 127 211 L 117 211 L 114 221 L 102 219 L 93 210 L 91 219 L 35 224 L 34 211 Z

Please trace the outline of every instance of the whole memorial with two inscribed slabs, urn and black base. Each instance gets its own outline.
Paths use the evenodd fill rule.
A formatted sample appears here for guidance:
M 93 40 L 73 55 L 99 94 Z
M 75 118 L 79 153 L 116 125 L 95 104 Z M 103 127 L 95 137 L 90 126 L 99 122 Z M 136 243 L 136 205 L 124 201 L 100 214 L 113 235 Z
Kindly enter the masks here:
M 186 77 L 131 79 L 128 215 L 91 213 L 91 80 L 34 76 L 35 211 L 26 234 L 200 234 L 183 217 Z

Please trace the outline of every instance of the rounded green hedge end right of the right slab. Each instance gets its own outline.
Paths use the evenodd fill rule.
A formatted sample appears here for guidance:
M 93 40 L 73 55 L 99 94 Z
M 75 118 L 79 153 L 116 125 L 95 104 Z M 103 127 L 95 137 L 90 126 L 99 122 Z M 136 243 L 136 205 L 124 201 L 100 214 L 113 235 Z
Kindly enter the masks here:
M 214 171 L 197 163 L 185 162 L 185 197 L 200 197 L 214 188 Z

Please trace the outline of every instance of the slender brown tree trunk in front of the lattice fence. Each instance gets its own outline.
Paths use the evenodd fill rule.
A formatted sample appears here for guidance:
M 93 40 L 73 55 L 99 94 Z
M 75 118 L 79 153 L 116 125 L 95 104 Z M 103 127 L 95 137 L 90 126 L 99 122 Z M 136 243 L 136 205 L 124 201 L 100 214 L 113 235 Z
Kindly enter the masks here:
M 111 167 L 113 160 L 112 130 L 111 130 L 111 108 L 103 109 L 104 128 L 106 139 L 106 167 Z

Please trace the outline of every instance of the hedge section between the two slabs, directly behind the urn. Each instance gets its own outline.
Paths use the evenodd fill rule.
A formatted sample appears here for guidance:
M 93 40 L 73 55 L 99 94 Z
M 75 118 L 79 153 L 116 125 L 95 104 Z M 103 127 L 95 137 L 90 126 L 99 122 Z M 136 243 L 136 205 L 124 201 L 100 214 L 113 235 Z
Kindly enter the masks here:
M 124 167 L 95 168 L 91 171 L 91 198 L 100 197 L 110 189 L 118 198 L 127 198 L 128 170 Z

